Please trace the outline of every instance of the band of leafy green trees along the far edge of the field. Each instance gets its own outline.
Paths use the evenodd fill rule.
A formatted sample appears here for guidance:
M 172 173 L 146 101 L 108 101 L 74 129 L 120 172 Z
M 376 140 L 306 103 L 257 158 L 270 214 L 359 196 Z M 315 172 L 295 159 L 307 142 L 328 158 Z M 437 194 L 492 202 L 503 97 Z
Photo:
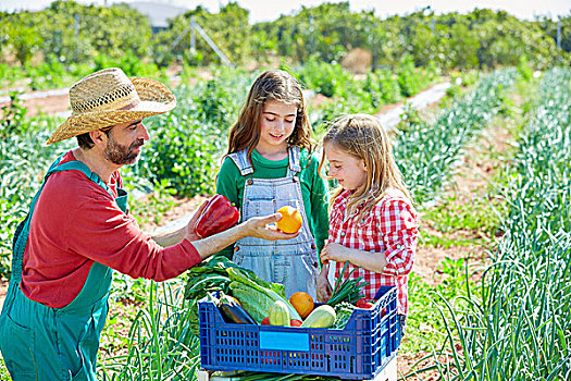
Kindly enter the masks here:
M 236 2 L 219 13 L 197 7 L 153 36 L 148 19 L 125 3 L 105 8 L 55 1 L 39 12 L 0 13 L 0 61 L 26 71 L 46 64 L 45 75 L 73 73 L 80 71 L 77 65 L 101 61 L 119 63 L 124 57 L 158 67 L 220 62 L 198 35 L 196 50 L 190 49 L 194 17 L 236 64 L 272 57 L 340 62 L 355 48 L 369 51 L 374 67 L 398 67 L 404 57 L 415 66 L 434 62 L 443 70 L 516 65 L 521 57 L 537 69 L 571 62 L 571 15 L 560 17 L 559 50 L 556 22 L 546 16 L 522 21 L 487 9 L 436 15 L 426 8 L 381 20 L 372 11 L 351 12 L 348 2 L 338 2 L 303 7 L 297 14 L 253 25 L 248 15 Z

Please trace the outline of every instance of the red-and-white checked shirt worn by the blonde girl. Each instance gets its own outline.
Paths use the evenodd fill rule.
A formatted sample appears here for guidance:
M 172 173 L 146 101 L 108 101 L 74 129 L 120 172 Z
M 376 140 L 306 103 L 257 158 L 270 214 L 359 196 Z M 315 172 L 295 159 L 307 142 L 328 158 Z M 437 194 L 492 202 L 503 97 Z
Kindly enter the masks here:
M 385 255 L 388 265 L 383 272 L 372 272 L 361 268 L 351 279 L 363 276 L 369 283 L 364 297 L 373 298 L 382 285 L 397 286 L 397 312 L 408 312 L 408 274 L 417 251 L 417 212 L 398 192 L 388 192 L 372 209 L 368 217 L 357 220 L 357 212 L 345 217 L 348 197 L 352 192 L 343 192 L 333 204 L 330 217 L 330 242 L 363 251 Z M 339 278 L 345 263 L 337 262 L 335 278 Z M 347 270 L 356 267 L 349 263 Z M 346 270 L 346 274 L 348 271 Z

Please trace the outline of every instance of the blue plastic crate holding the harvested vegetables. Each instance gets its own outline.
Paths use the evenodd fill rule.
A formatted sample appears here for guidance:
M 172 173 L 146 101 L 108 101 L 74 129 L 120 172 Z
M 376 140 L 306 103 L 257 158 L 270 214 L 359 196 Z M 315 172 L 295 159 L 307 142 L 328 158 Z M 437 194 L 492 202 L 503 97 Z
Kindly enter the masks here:
M 212 302 L 201 299 L 202 368 L 373 379 L 400 344 L 396 288 L 382 286 L 375 298 L 343 330 L 226 323 Z

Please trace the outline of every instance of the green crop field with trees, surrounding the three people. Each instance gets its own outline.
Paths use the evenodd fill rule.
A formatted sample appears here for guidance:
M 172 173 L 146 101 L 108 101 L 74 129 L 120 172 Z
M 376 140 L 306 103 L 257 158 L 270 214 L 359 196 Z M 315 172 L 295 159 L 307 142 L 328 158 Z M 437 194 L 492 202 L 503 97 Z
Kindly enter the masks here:
M 249 25 L 231 3 L 219 14 L 197 9 L 176 16 L 156 35 L 127 5 L 55 1 L 37 13 L 0 12 L 8 47 L 0 46 L 0 303 L 16 225 L 51 162 L 76 146 L 74 139 L 46 146 L 65 116 L 33 108 L 23 93 L 65 88 L 108 66 L 173 90 L 177 107 L 145 121 L 150 140 L 136 164 L 121 169 L 134 196 L 131 213 L 152 234 L 212 197 L 248 88 L 262 71 L 283 69 L 303 87 L 318 151 L 336 116 L 404 110 L 388 132 L 419 211 L 420 237 L 399 379 L 571 380 L 571 19 L 561 17 L 559 47 L 548 20 L 491 10 L 378 20 L 348 7 L 303 8 Z M 90 17 L 97 28 L 86 25 Z M 140 25 L 140 38 L 105 29 L 108 17 L 128 21 L 129 30 Z M 55 30 L 52 19 L 77 36 Z M 181 34 L 190 20 L 223 40 L 236 66 L 220 65 L 202 42 L 189 51 L 189 36 Z M 369 54 L 359 56 L 367 56 L 363 70 L 356 48 Z M 449 88 L 439 101 L 411 107 L 411 97 L 443 84 Z M 185 297 L 195 275 L 154 282 L 115 272 L 100 379 L 198 379 L 197 304 L 208 287 Z M 0 355 L 0 380 L 9 379 Z M 333 378 L 248 372 L 233 380 Z

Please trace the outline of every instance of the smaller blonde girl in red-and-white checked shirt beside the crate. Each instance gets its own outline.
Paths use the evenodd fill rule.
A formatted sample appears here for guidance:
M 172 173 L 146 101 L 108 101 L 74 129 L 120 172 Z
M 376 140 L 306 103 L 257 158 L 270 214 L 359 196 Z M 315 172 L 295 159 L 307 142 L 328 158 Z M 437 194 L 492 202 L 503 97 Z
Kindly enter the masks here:
M 367 114 L 336 119 L 323 138 L 328 179 L 339 187 L 331 199 L 328 243 L 321 251 L 323 269 L 318 298 L 332 294 L 328 261 L 336 262 L 335 276 L 346 261 L 357 270 L 351 278 L 369 283 L 365 298 L 381 285 L 395 285 L 397 314 L 408 312 L 407 279 L 417 249 L 417 212 L 393 157 L 390 142 L 377 119 Z

